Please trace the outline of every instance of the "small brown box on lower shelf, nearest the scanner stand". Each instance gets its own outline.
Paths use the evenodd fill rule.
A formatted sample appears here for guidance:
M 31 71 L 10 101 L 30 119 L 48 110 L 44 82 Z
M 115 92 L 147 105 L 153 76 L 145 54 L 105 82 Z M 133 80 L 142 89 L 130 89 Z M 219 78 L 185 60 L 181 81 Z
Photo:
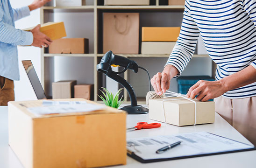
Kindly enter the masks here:
M 78 84 L 75 85 L 75 98 L 85 98 L 93 100 L 93 84 Z

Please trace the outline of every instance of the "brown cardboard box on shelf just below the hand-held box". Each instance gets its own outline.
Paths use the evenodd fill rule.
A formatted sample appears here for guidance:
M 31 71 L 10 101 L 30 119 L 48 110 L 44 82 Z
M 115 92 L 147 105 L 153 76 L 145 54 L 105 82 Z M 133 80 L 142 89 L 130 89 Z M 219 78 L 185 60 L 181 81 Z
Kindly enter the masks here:
M 86 38 L 64 38 L 54 40 L 49 46 L 50 54 L 87 54 L 89 40 Z

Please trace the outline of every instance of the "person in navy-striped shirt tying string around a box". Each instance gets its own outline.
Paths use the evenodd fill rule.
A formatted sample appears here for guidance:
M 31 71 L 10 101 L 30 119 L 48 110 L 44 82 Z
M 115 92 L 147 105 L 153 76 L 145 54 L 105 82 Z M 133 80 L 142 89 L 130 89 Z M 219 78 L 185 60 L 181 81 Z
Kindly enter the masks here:
M 216 81 L 200 80 L 187 97 L 214 98 L 216 112 L 256 145 L 256 0 L 185 0 L 178 41 L 151 79 L 157 94 L 185 69 L 199 35 L 217 64 Z

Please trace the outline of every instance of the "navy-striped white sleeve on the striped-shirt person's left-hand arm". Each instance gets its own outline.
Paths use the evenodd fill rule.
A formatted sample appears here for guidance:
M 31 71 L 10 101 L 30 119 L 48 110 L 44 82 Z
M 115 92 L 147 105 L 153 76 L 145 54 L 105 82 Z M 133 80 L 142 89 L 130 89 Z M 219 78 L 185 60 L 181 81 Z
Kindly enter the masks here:
M 185 10 L 180 34 L 168 61 L 165 64 L 165 66 L 173 65 L 177 68 L 179 74 L 175 77 L 180 76 L 192 58 L 199 37 L 199 29 L 190 14 L 189 6 L 189 0 L 185 0 Z

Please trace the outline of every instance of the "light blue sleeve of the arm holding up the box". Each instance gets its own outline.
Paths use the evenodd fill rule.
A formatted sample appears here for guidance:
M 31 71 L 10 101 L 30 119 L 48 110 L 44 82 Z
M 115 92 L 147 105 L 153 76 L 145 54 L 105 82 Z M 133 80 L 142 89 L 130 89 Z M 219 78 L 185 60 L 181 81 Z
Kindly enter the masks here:
M 2 6 L 1 2 L 0 5 Z M 0 42 L 12 45 L 31 45 L 33 34 L 14 28 L 3 21 L 4 12 L 0 8 Z

